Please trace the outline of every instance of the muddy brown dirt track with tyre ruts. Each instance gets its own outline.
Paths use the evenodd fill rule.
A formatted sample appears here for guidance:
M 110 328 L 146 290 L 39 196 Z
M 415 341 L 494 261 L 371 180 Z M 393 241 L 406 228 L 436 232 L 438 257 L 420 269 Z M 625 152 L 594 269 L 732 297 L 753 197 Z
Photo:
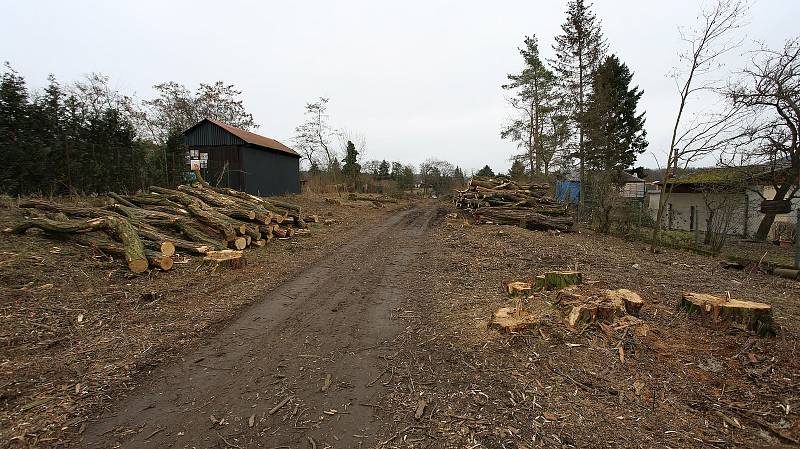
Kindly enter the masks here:
M 397 212 L 287 279 L 202 348 L 151 373 L 80 445 L 374 446 L 385 433 L 375 415 L 386 389 L 378 379 L 389 374 L 381 360 L 402 330 L 403 287 L 418 277 L 408 267 L 437 211 Z

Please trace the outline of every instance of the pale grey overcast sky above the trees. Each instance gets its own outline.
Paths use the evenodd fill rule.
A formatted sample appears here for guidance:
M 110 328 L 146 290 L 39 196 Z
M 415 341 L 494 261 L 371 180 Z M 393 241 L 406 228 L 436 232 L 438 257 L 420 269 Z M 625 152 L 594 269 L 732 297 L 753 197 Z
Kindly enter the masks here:
M 33 88 L 89 72 L 126 94 L 224 80 L 244 92 L 257 132 L 287 144 L 304 105 L 330 97 L 334 126 L 358 131 L 366 159 L 418 164 L 436 157 L 506 170 L 500 139 L 511 111 L 500 85 L 521 69 L 517 47 L 536 34 L 546 57 L 566 1 L 2 1 L 0 59 Z M 699 0 L 598 0 L 609 49 L 644 90 L 648 154 L 669 145 L 676 95 L 666 75 Z M 781 45 L 797 31 L 797 0 L 751 2 L 749 41 Z M 732 55 L 745 61 L 744 49 Z M 734 67 L 730 68 L 731 70 Z

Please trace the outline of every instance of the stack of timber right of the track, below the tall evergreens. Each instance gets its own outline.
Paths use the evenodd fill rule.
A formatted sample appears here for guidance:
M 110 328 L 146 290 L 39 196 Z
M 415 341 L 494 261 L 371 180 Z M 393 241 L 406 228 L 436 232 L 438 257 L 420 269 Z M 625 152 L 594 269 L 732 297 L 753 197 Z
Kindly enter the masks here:
M 507 176 L 473 177 L 466 190 L 456 190 L 456 207 L 478 223 L 510 224 L 540 231 L 572 230 L 567 207 L 548 196 L 547 184 L 523 184 Z

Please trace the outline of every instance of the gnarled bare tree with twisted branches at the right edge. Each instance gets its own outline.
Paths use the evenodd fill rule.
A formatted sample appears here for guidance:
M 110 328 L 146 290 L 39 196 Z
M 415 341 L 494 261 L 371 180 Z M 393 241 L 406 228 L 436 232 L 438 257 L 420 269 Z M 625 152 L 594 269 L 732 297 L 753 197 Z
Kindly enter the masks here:
M 798 196 L 800 185 L 800 40 L 787 41 L 780 50 L 755 52 L 745 80 L 731 86 L 727 96 L 753 117 L 736 147 L 744 160 L 764 165 L 762 181 L 775 189 L 772 198 L 788 202 Z M 755 233 L 764 240 L 775 222 L 774 211 L 765 213 Z

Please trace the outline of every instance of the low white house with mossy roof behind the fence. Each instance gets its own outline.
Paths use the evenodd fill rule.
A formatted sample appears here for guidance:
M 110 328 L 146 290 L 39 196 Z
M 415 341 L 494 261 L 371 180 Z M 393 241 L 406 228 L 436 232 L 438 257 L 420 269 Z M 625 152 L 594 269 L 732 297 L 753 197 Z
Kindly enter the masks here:
M 775 172 L 765 171 L 764 167 L 712 168 L 678 177 L 670 181 L 672 193 L 667 200 L 664 225 L 684 231 L 693 231 L 698 226 L 700 231 L 705 231 L 712 217 L 716 232 L 724 230 L 727 234 L 750 237 L 764 218 L 762 206 L 775 206 L 774 203 L 762 205 L 765 198 L 775 196 L 775 188 L 768 182 L 773 174 Z M 654 185 L 655 189 L 647 192 L 653 218 L 663 190 L 660 182 Z M 776 215 L 770 237 L 780 228 L 796 223 L 800 199 L 794 198 L 780 206 L 788 210 Z

